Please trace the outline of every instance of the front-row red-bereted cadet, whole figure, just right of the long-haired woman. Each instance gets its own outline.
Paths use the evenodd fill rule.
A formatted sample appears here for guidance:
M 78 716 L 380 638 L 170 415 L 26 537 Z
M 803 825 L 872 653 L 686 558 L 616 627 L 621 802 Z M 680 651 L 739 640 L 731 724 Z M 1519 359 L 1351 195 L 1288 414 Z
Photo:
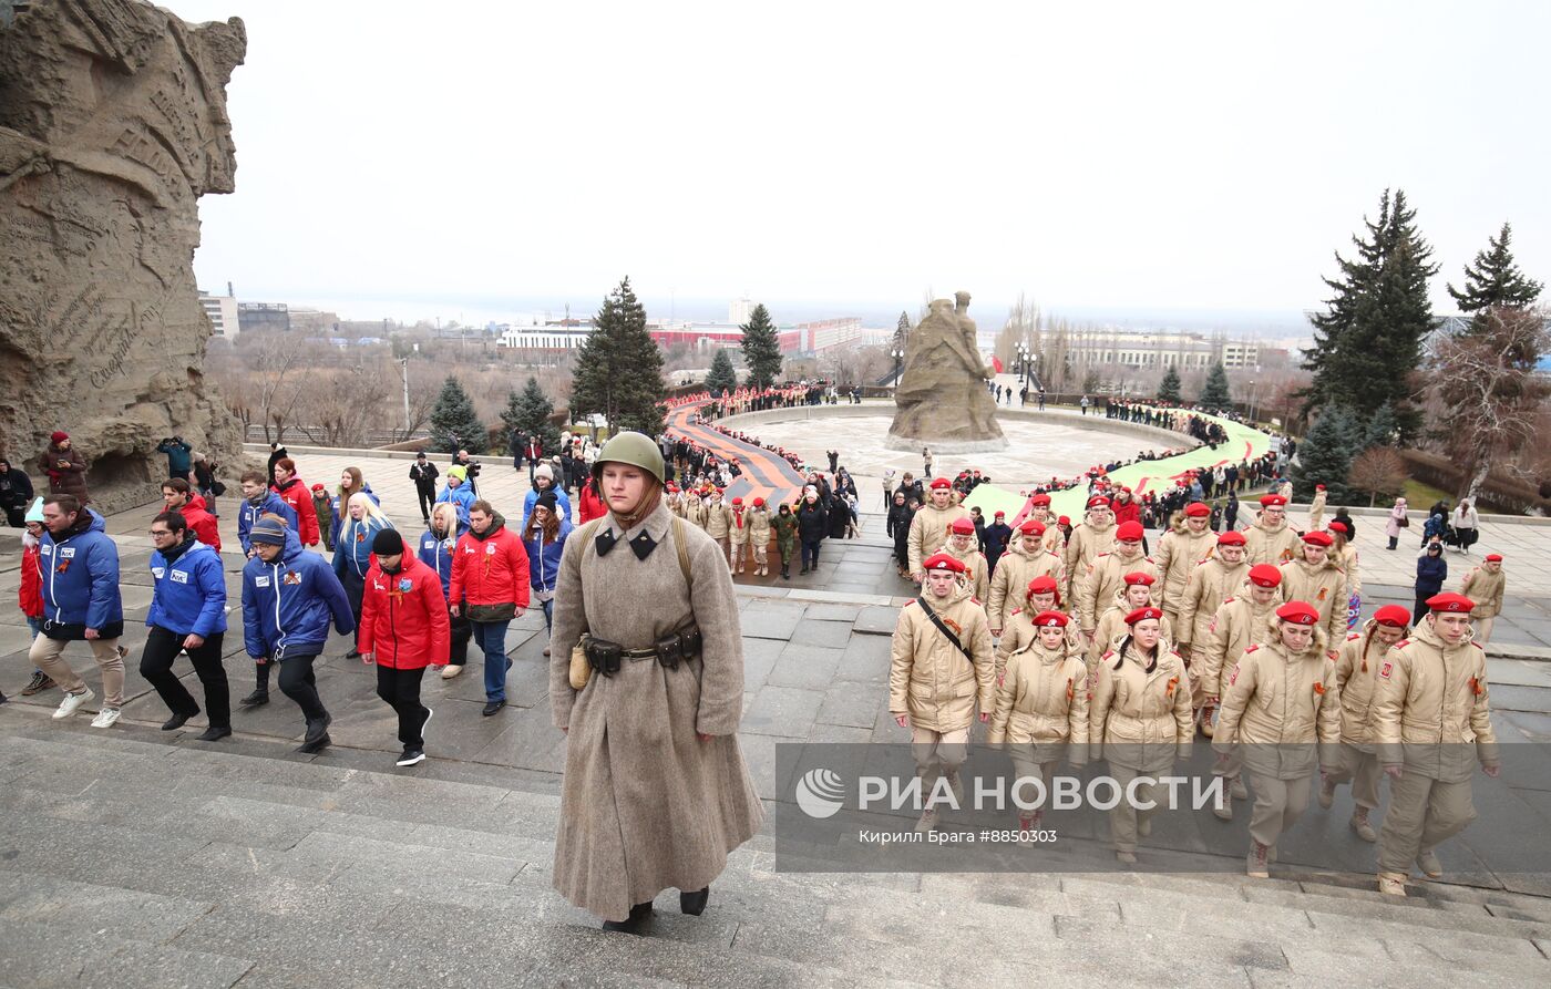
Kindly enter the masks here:
M 1335 769 L 1342 738 L 1335 657 L 1320 612 L 1307 601 L 1276 609 L 1263 643 L 1228 673 L 1211 747 L 1222 766 L 1236 755 L 1250 777 L 1250 849 L 1244 871 L 1270 877 L 1276 839 L 1309 806 L 1314 772 Z

